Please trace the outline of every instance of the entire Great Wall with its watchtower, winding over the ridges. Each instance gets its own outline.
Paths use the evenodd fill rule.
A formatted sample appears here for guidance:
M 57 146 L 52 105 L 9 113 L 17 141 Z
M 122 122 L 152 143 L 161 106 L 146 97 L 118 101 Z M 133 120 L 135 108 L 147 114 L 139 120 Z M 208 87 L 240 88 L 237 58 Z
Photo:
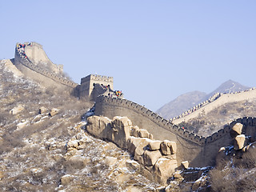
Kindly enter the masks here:
M 26 45 L 33 47 L 38 46 L 39 44 L 31 42 L 31 44 L 26 43 Z M 40 51 L 43 51 L 42 47 L 38 47 Z M 31 53 L 33 53 L 33 51 Z M 43 51 L 43 53 L 45 52 Z M 207 112 L 207 109 L 222 105 L 226 100 L 238 101 L 239 99 L 245 97 L 248 98 L 249 96 L 255 98 L 256 90 L 254 89 L 237 94 L 216 94 L 210 98 L 208 102 L 202 102 L 194 107 L 195 110 L 190 110 L 190 112 L 184 113 L 180 118 L 172 119 L 170 121 L 135 102 L 112 97 L 112 95 L 110 97 L 110 94 L 104 94 L 106 93 L 106 90 L 108 90 L 106 88 L 107 86 L 110 87 L 109 90 L 113 90 L 113 78 L 100 75 L 89 75 L 86 78 L 82 78 L 81 85 L 78 85 L 66 78 L 60 77 L 57 73 L 50 73 L 50 71 L 43 70 L 30 59 L 30 55 L 26 55 L 20 51 L 18 45 L 15 49 L 14 63 L 23 74 L 26 74 L 30 78 L 45 82 L 48 86 L 54 83 L 56 84 L 57 82 L 58 85 L 76 90 L 79 97 L 85 95 L 89 95 L 89 97 L 91 96 L 90 98 L 95 101 L 96 115 L 106 116 L 108 118 L 114 118 L 114 116 L 126 116 L 130 118 L 134 125 L 146 129 L 150 134 L 153 134 L 154 139 L 167 139 L 176 142 L 178 163 L 187 160 L 190 162 L 191 166 L 213 166 L 218 150 L 222 146 L 230 146 L 232 142 L 230 129 L 236 122 L 241 122 L 245 126 L 244 131 L 248 132 L 254 140 L 256 137 L 256 118 L 239 118 L 207 138 L 191 133 L 188 130 L 175 125 L 178 124 L 178 122 L 174 121 L 178 120 L 182 122 L 189 116 L 191 117 L 191 115 L 196 116 L 202 113 L 202 110 Z M 58 70 L 55 72 L 58 72 Z

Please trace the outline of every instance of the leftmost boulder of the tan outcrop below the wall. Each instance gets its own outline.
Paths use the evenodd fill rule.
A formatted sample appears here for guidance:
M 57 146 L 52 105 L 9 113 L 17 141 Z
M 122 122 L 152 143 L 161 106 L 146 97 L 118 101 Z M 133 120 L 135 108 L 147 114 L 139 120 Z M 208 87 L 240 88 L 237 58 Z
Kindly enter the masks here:
M 87 131 L 96 138 L 108 138 L 112 141 L 111 120 L 106 117 L 90 116 L 87 118 Z

